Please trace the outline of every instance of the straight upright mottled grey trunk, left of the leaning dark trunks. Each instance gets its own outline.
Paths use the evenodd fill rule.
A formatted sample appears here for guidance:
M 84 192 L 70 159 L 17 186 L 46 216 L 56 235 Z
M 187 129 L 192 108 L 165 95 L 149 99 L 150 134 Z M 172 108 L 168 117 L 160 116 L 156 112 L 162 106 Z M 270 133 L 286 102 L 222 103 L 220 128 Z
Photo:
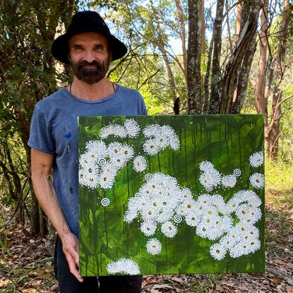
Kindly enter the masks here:
M 189 45 L 187 54 L 188 114 L 201 114 L 201 11 L 203 0 L 189 0 Z

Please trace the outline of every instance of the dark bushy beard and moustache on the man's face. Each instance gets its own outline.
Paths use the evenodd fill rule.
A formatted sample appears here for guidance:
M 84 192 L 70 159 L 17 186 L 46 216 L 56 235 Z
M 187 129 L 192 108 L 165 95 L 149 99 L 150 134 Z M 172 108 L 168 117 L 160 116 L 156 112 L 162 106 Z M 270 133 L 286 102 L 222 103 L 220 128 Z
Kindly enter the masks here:
M 79 79 L 92 85 L 102 80 L 106 76 L 107 71 L 109 70 L 109 59 L 99 62 L 99 61 L 80 61 L 78 63 L 71 62 L 73 74 Z M 95 66 L 92 68 L 84 68 L 84 66 Z

